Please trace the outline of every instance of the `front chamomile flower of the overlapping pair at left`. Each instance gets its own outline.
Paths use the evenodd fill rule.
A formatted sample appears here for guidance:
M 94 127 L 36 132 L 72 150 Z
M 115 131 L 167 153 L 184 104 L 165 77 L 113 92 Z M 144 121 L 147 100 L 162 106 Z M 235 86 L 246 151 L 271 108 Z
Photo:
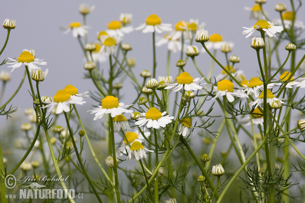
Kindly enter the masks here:
M 70 111 L 70 104 L 85 104 L 86 101 L 83 101 L 82 97 L 73 96 L 69 92 L 60 89 L 53 96 L 53 101 L 45 102 L 47 105 L 43 108 L 49 108 L 49 112 L 52 111 L 53 108 L 56 108 L 56 114 L 60 114 L 64 112 Z

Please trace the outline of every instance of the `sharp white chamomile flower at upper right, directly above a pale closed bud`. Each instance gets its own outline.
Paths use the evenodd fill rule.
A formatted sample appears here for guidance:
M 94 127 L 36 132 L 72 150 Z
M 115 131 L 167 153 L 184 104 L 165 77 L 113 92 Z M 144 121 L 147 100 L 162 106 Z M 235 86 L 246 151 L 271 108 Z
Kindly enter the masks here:
M 242 31 L 243 34 L 248 34 L 246 36 L 246 38 L 249 38 L 255 30 L 266 32 L 270 38 L 276 37 L 276 33 L 282 32 L 284 29 L 283 26 L 276 26 L 276 25 L 273 25 L 272 22 L 270 22 L 270 21 L 267 22 L 265 20 L 258 20 L 253 25 L 253 27 L 242 27 L 242 28 L 246 29 L 246 30 Z

